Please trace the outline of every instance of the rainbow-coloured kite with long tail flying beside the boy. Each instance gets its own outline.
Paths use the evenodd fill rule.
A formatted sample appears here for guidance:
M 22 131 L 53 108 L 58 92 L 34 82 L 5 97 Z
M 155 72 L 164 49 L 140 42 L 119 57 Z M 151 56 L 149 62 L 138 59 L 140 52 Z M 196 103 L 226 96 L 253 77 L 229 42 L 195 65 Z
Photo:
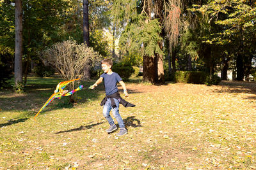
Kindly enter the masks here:
M 76 80 L 79 80 L 79 78 L 74 80 L 62 81 L 58 83 L 56 89 L 54 90 L 54 94 L 52 94 L 52 96 L 49 97 L 49 99 L 45 102 L 44 106 L 42 106 L 42 108 L 38 111 L 38 113 L 36 113 L 34 118 L 36 118 L 39 115 L 40 111 L 42 111 L 49 103 L 51 103 L 53 99 L 56 99 L 56 98 L 60 99 L 62 96 L 70 96 L 71 94 L 74 94 L 74 92 L 83 89 L 83 85 L 79 85 L 77 89 L 74 89 L 70 92 L 68 92 L 68 90 L 63 90 L 68 85 L 68 83 Z

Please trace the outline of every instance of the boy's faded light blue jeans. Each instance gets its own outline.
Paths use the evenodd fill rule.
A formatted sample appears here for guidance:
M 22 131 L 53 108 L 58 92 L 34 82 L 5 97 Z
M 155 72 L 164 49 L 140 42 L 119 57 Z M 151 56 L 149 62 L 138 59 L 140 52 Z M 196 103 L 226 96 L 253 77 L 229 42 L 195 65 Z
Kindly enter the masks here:
M 111 116 L 109 115 L 109 112 L 112 109 L 113 116 L 118 122 L 119 127 L 124 128 L 124 121 L 121 115 L 119 114 L 119 101 L 118 99 L 115 99 L 115 98 L 114 98 L 114 101 L 116 103 L 116 108 L 112 108 L 110 98 L 107 99 L 106 103 L 103 106 L 103 115 L 106 118 L 106 120 L 108 120 L 109 125 L 115 125 L 113 118 L 111 118 Z

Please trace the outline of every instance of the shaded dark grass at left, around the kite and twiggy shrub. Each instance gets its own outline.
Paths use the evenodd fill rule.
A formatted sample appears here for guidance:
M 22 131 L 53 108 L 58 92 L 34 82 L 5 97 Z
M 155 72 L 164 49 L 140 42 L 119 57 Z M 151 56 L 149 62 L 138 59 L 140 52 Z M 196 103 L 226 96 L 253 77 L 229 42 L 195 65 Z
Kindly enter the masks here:
M 13 80 L 12 80 L 13 81 Z M 54 92 L 56 85 L 61 78 L 38 78 L 35 76 L 28 76 L 28 83 L 26 85 L 25 94 L 15 94 L 10 90 L 6 90 L 0 93 L 0 109 L 1 111 L 29 111 L 37 112 L 49 99 Z M 87 103 L 88 101 L 94 101 L 99 98 L 99 94 L 104 91 L 103 85 L 100 85 L 97 90 L 90 90 L 88 87 L 94 83 L 91 81 L 81 81 L 79 84 L 84 85 L 84 88 L 76 93 L 78 102 Z M 68 97 L 62 97 L 61 99 L 54 99 L 53 103 L 50 103 L 43 111 L 59 110 L 65 105 L 65 101 Z

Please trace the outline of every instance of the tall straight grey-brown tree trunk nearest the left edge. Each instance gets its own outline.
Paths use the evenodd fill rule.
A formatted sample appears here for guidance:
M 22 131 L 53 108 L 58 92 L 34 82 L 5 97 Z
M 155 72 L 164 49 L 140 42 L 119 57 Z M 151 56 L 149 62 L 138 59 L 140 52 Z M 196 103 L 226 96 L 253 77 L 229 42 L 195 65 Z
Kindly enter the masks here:
M 15 85 L 22 83 L 22 1 L 15 0 Z

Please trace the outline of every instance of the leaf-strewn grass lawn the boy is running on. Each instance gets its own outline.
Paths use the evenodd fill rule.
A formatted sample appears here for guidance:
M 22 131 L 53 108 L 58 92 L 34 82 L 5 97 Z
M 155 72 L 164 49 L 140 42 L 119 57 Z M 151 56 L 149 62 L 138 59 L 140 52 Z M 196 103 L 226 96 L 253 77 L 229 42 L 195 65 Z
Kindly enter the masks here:
M 256 83 L 126 82 L 136 107 L 120 106 L 128 134 L 117 137 L 105 132 L 102 85 L 72 107 L 55 99 L 35 122 L 59 81 L 31 76 L 26 93 L 0 92 L 0 169 L 256 169 Z

